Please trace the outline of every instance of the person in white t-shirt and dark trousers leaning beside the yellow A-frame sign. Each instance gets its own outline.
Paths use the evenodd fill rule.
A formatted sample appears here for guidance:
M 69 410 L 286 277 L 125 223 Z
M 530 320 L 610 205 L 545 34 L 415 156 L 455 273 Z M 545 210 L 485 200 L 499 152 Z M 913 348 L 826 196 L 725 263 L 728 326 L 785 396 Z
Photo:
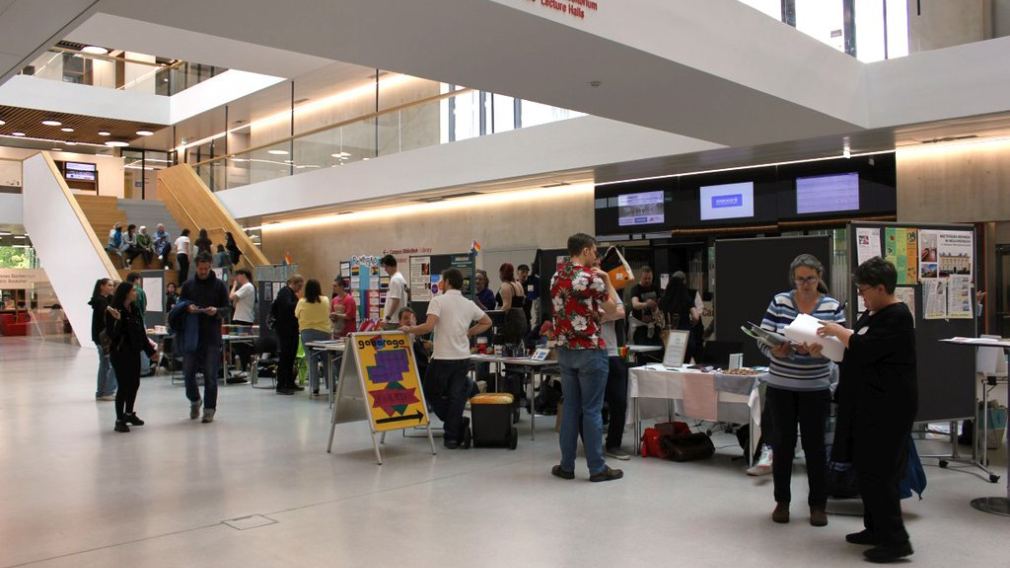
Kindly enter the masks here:
M 434 354 L 424 375 L 424 396 L 445 422 L 442 443 L 456 450 L 470 446 L 470 421 L 463 416 L 470 392 L 470 338 L 488 330 L 491 317 L 460 291 L 463 273 L 458 269 L 442 272 L 438 288 L 442 293 L 428 303 L 424 323 L 404 325 L 400 330 L 414 336 L 435 334 Z

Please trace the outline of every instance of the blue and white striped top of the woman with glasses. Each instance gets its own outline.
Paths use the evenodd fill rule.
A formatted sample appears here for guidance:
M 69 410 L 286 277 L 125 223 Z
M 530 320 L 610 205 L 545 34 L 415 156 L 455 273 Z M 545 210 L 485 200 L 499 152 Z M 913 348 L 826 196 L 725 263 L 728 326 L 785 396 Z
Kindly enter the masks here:
M 761 326 L 770 332 L 784 334 L 786 326 L 800 314 L 796 307 L 796 292 L 776 294 L 768 305 Z M 810 314 L 817 319 L 845 323 L 845 312 L 838 300 L 822 295 Z M 824 357 L 810 357 L 793 353 L 787 359 L 778 359 L 772 350 L 761 346 L 762 353 L 771 360 L 768 384 L 783 390 L 825 390 L 831 387 L 834 363 Z

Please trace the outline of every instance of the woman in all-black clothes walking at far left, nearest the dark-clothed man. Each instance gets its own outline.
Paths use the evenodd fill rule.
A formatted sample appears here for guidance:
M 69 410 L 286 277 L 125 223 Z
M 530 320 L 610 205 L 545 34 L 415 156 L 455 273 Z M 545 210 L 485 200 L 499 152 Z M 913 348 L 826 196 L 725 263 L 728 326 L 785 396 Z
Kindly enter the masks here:
M 154 359 L 155 345 L 147 339 L 133 284 L 120 283 L 110 307 L 105 314 L 105 326 L 112 341 L 109 358 L 119 381 L 115 431 L 129 432 L 128 424 L 143 425 L 143 420 L 133 410 L 136 391 L 140 388 L 140 353 Z

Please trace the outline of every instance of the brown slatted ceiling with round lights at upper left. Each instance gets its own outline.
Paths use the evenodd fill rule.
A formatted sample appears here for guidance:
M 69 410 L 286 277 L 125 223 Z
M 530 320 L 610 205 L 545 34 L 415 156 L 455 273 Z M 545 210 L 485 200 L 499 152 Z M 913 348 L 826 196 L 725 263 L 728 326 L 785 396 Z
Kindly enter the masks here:
M 137 130 L 158 131 L 164 127 L 129 120 L 112 120 L 2 105 L 0 105 L 0 120 L 6 122 L 0 126 L 0 134 L 11 135 L 12 132 L 24 132 L 26 137 L 46 138 L 55 143 L 66 140 L 91 144 L 105 144 L 108 140 L 128 141 L 137 137 Z M 42 120 L 59 120 L 63 124 L 46 126 L 42 124 Z M 65 127 L 74 128 L 74 131 L 64 132 L 61 130 Z M 98 135 L 99 130 L 106 130 L 111 135 L 100 136 Z

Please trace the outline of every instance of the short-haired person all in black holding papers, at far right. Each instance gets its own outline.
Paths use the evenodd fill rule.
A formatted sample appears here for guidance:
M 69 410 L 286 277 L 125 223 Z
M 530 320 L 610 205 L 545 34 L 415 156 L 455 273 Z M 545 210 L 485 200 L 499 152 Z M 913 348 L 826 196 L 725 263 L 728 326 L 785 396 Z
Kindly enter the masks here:
M 818 330 L 845 345 L 831 458 L 852 463 L 863 498 L 866 530 L 845 540 L 873 545 L 864 553 L 871 562 L 893 562 L 912 554 L 898 487 L 918 411 L 915 321 L 894 296 L 893 264 L 875 257 L 860 265 L 852 279 L 866 313 L 852 329 L 826 323 Z

